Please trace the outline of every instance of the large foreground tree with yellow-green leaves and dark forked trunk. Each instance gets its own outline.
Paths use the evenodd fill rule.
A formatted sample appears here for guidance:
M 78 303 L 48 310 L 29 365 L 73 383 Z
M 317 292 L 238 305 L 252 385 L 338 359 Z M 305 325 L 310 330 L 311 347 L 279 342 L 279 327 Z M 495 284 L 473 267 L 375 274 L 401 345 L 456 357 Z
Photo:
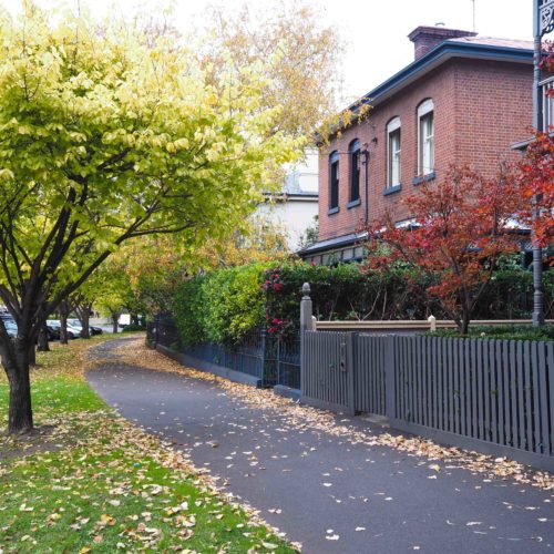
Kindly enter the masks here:
M 1 21 L 0 321 L 9 432 L 33 427 L 29 357 L 48 314 L 122 244 L 223 237 L 297 156 L 263 64 L 208 72 L 191 41 L 32 2 Z

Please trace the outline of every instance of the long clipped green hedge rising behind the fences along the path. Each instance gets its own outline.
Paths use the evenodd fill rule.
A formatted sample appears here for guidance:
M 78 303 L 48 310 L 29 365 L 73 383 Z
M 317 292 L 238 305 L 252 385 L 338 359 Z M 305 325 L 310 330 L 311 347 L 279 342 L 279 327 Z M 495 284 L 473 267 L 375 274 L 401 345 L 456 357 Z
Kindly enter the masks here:
M 269 334 L 294 335 L 299 326 L 301 286 L 309 283 L 314 315 L 325 320 L 448 318 L 425 295 L 428 284 L 403 267 L 363 271 L 355 264 L 335 267 L 302 261 L 253 264 L 220 269 L 186 280 L 173 299 L 185 345 L 233 343 L 266 325 Z M 554 271 L 544 274 L 545 314 L 553 317 Z M 532 274 L 507 268 L 494 274 L 473 319 L 530 318 Z

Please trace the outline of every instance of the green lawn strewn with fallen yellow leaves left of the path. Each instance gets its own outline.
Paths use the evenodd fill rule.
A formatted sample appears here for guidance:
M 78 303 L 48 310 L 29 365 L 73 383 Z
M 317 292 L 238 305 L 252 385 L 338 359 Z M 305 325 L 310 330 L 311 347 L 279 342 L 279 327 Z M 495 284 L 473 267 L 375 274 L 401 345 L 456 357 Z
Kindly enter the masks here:
M 38 433 L 0 438 L 0 553 L 295 552 L 83 379 L 92 341 L 39 356 Z M 6 427 L 8 384 L 0 377 Z

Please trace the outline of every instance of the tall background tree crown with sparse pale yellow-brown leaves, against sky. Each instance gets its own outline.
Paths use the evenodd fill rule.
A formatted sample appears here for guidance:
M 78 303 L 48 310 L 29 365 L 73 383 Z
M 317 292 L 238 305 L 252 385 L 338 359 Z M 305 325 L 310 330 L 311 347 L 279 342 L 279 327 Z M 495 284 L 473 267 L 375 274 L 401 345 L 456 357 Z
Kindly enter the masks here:
M 275 2 L 270 9 L 244 4 L 212 8 L 205 63 L 214 75 L 230 62 L 237 68 L 264 60 L 265 106 L 284 106 L 277 130 L 307 137 L 336 121 L 341 98 L 340 57 L 345 45 L 336 25 L 322 23 L 319 7 L 305 0 Z

